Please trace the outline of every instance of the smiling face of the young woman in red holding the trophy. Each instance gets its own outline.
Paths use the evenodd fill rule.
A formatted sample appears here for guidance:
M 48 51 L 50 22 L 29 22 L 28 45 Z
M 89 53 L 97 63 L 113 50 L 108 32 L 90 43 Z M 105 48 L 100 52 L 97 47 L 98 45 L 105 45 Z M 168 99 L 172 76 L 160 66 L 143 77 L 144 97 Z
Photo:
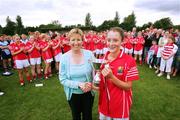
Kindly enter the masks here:
M 119 32 L 109 31 L 107 35 L 107 46 L 109 48 L 109 52 L 116 53 L 119 52 L 121 47 L 122 37 Z

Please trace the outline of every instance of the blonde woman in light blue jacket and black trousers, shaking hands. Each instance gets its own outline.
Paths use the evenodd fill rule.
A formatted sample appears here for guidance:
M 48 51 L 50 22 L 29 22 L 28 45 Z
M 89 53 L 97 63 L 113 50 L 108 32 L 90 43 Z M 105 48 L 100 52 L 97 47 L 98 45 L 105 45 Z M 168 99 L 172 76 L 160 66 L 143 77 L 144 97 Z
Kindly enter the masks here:
M 92 120 L 94 94 L 92 90 L 91 51 L 82 49 L 83 32 L 72 29 L 69 32 L 71 50 L 62 55 L 59 79 L 64 86 L 73 120 Z

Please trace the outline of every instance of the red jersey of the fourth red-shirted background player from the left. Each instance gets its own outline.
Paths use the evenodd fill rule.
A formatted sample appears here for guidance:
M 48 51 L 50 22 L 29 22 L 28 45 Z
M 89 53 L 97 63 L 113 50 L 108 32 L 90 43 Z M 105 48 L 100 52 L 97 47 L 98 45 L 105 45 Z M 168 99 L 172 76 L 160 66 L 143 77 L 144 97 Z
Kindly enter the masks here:
M 51 41 L 52 47 L 56 47 L 56 46 L 59 44 L 59 42 L 61 42 L 61 41 L 59 41 L 59 40 L 57 40 L 57 39 L 53 39 L 53 40 Z M 61 53 L 61 47 L 58 46 L 56 49 L 53 49 L 52 52 L 53 52 L 53 56 L 58 55 L 59 53 Z

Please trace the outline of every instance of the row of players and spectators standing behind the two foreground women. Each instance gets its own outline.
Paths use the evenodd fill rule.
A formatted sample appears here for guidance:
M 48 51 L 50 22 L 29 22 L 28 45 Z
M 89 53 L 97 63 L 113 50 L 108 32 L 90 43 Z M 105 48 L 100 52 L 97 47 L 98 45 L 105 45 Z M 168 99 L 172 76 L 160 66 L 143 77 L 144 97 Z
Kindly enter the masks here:
M 92 51 L 97 59 L 103 59 L 108 51 L 106 37 L 107 31 L 84 32 L 82 48 Z M 49 33 L 30 32 L 28 37 L 24 34 L 12 37 L 3 35 L 0 37 L 3 74 L 10 74 L 8 67 L 11 68 L 11 58 L 13 58 L 13 65 L 18 70 L 21 85 L 24 85 L 23 71 L 29 82 L 42 77 L 48 79 L 52 76 L 51 62 L 55 62 L 58 73 L 61 55 L 71 48 L 69 42 L 68 33 L 59 34 L 51 31 Z M 132 31 L 124 32 L 121 49 L 126 54 L 133 55 L 140 65 L 145 61 L 149 64 L 149 68 L 154 67 L 156 73 L 159 73 L 158 76 L 162 76 L 165 71 L 167 79 L 170 79 L 170 73 L 176 76 L 179 69 L 178 30 L 172 33 L 162 29 L 147 28 L 145 31 L 136 32 L 136 28 L 133 28 Z M 42 61 L 45 64 L 43 73 Z M 30 65 L 32 77 L 27 69 Z

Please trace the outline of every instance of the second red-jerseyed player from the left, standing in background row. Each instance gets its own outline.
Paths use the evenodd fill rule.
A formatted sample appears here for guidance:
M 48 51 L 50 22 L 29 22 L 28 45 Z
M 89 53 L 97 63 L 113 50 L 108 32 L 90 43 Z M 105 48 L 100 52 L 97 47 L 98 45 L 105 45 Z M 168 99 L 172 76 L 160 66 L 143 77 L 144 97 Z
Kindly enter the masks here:
M 25 49 L 28 52 L 29 61 L 31 64 L 31 73 L 33 79 L 35 80 L 37 77 L 41 78 L 41 54 L 40 48 L 37 46 L 38 42 L 34 38 L 34 36 L 30 36 L 29 41 L 25 45 Z M 36 73 L 37 72 L 37 73 Z

